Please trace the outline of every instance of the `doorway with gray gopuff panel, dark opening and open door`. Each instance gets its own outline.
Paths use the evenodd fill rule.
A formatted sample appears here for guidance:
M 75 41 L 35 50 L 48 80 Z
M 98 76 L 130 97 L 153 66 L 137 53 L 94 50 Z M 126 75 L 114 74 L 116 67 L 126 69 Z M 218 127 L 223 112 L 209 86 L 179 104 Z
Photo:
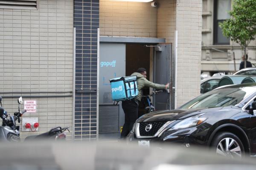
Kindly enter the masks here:
M 143 67 L 147 70 L 147 79 L 158 84 L 166 83 L 166 72 L 171 69 L 165 65 L 169 64 L 168 58 L 172 57 L 169 45 L 159 44 L 158 42 L 147 43 L 137 42 L 140 39 L 135 39 L 134 42 L 127 42 L 130 38 L 121 38 L 117 42 L 116 39 L 104 37 L 99 45 L 99 139 L 111 138 L 118 139 L 120 136 L 121 127 L 124 124 L 124 112 L 122 103 L 113 105 L 111 88 L 109 79 L 129 76 L 136 72 L 138 68 Z M 147 39 L 151 40 L 151 39 Z M 154 39 L 155 40 L 155 39 Z M 158 41 L 159 39 L 157 39 Z M 146 46 L 148 44 L 148 46 Z M 159 47 L 159 48 L 155 48 Z M 167 48 L 168 47 L 168 48 Z M 161 50 L 160 50 L 161 49 Z M 168 50 L 167 50 L 168 49 Z M 167 53 L 166 53 L 167 51 Z M 164 66 L 162 66 L 164 63 Z M 154 71 L 155 70 L 155 71 Z M 154 73 L 154 74 L 153 74 Z M 158 73 L 158 74 L 156 74 Z M 165 76 L 161 76 L 165 75 Z M 143 88 L 143 95 L 148 95 L 149 88 Z M 167 95 L 167 94 L 165 94 Z M 154 101 L 157 108 L 161 108 L 163 103 L 166 104 L 168 96 L 161 96 Z M 164 99 L 164 101 L 162 101 Z M 139 116 L 145 114 L 145 100 L 139 106 Z M 166 106 L 164 106 L 166 108 Z

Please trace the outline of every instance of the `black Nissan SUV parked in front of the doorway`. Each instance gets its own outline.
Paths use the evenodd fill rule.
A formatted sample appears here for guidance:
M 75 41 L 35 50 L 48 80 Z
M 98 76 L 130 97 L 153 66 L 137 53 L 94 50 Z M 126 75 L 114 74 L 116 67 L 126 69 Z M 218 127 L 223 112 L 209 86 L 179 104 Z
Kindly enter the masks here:
M 217 154 L 256 154 L 256 83 L 221 87 L 175 110 L 137 119 L 127 141 L 212 147 Z

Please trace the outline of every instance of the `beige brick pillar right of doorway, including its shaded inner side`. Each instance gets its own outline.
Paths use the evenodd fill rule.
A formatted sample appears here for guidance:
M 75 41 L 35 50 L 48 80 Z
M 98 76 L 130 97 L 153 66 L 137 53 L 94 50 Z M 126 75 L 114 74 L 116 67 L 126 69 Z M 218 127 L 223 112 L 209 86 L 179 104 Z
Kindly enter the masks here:
M 201 0 L 158 0 L 157 37 L 173 43 L 178 31 L 177 107 L 200 95 Z M 172 55 L 175 55 L 174 51 Z

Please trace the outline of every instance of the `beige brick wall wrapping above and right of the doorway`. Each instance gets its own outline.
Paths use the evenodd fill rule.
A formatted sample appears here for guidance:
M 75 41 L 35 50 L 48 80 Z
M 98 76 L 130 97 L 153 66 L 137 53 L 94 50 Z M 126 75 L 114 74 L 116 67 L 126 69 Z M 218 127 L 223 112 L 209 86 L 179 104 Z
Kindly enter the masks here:
M 158 7 L 152 8 L 150 3 L 100 0 L 100 34 L 166 38 L 166 43 L 174 44 L 177 30 L 177 106 L 180 106 L 200 95 L 202 0 L 157 2 Z

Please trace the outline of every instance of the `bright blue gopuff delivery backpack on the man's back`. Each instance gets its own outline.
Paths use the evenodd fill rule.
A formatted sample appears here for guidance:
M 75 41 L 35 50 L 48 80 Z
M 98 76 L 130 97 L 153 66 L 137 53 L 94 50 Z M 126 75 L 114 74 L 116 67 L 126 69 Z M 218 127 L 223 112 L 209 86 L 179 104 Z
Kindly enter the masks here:
M 109 81 L 111 84 L 112 100 L 114 101 L 114 104 L 115 101 L 118 103 L 119 101 L 130 100 L 138 95 L 136 75 L 113 78 Z

